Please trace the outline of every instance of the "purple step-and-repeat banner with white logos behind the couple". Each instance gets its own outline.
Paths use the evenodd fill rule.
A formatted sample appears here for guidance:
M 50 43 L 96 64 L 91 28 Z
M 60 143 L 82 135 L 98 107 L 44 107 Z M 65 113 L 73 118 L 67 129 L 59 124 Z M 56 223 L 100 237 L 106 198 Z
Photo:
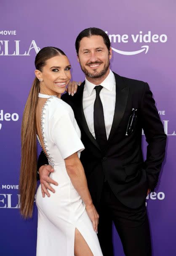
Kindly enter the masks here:
M 21 119 L 35 55 L 45 46 L 61 48 L 73 80 L 83 81 L 75 39 L 87 27 L 109 36 L 113 71 L 146 81 L 153 92 L 168 141 L 157 189 L 146 199 L 152 249 L 154 256 L 176 255 L 175 9 L 173 0 L 0 0 L 0 256 L 36 253 L 37 208 L 32 219 L 21 218 L 18 185 Z M 146 157 L 144 135 L 143 147 Z M 113 233 L 115 256 L 124 256 L 114 227 Z

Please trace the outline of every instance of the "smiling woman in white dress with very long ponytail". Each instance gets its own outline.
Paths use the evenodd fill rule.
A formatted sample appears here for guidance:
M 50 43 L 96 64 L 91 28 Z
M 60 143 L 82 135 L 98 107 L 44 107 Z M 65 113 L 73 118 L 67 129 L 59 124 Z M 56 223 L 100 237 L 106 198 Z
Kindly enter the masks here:
M 59 183 L 51 197 L 42 197 L 37 189 L 37 256 L 102 256 L 96 235 L 99 215 L 79 159 L 84 149 L 80 129 L 72 108 L 60 99 L 71 79 L 71 65 L 63 51 L 45 47 L 37 53 L 35 67 L 21 126 L 21 214 L 32 216 L 37 135 L 54 168 L 51 178 Z

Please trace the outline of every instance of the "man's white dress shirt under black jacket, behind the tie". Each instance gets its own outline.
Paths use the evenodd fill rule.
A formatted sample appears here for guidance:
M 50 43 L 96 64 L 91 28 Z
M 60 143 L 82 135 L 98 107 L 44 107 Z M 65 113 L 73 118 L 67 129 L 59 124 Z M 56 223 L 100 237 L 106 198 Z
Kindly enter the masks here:
M 96 91 L 93 90 L 93 83 L 90 83 L 85 78 L 85 86 L 83 91 L 83 111 L 85 115 L 85 120 L 88 124 L 89 131 L 95 138 L 94 122 L 93 122 L 93 107 L 96 99 Z M 112 127 L 112 121 L 115 112 L 115 99 L 116 99 L 116 86 L 115 86 L 115 76 L 110 70 L 109 75 L 101 83 L 103 88 L 100 91 L 100 99 L 103 105 L 104 112 L 104 123 L 106 127 L 107 139 L 109 138 L 109 133 Z

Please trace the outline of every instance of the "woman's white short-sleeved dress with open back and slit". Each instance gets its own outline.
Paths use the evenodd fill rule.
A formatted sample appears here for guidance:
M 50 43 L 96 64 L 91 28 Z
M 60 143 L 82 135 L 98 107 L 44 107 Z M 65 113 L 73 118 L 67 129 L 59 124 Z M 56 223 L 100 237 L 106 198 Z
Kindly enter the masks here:
M 80 155 L 84 149 L 73 110 L 56 96 L 39 93 L 39 97 L 48 98 L 42 110 L 41 128 L 48 162 L 54 168 L 50 177 L 59 185 L 53 185 L 56 192 L 50 192 L 50 197 L 42 197 L 41 186 L 37 189 L 37 256 L 74 256 L 75 228 L 93 255 L 102 256 L 92 222 L 64 162 L 66 157 L 75 152 Z

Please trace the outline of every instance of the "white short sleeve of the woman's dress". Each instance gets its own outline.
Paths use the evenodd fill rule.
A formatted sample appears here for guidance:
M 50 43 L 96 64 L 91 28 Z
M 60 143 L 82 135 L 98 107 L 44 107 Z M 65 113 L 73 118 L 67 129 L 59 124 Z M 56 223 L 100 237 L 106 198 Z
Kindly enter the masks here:
M 62 158 L 65 159 L 75 152 L 83 151 L 85 148 L 75 129 L 74 114 L 68 111 L 64 111 L 61 115 L 57 114 L 52 118 L 51 138 L 58 147 Z

